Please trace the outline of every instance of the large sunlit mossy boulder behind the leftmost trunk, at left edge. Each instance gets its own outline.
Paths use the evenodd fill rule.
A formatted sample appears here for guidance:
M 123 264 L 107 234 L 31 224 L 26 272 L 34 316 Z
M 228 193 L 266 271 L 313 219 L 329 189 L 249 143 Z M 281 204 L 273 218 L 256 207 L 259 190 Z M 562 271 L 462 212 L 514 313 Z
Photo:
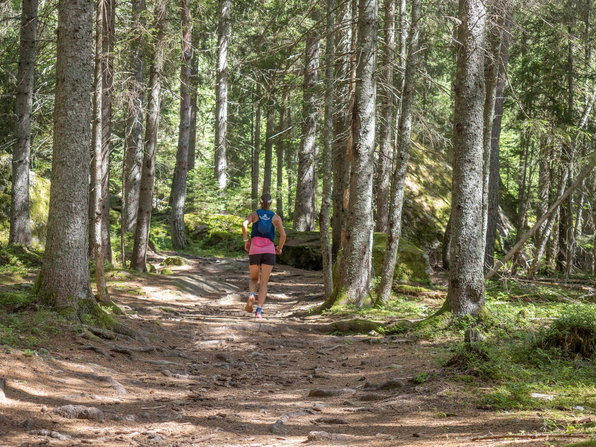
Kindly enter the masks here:
M 12 188 L 13 157 L 0 153 L 0 243 L 8 243 L 10 231 L 10 198 Z M 49 180 L 29 171 L 29 213 L 31 222 L 31 242 L 34 247 L 45 247 L 45 234 L 48 225 Z

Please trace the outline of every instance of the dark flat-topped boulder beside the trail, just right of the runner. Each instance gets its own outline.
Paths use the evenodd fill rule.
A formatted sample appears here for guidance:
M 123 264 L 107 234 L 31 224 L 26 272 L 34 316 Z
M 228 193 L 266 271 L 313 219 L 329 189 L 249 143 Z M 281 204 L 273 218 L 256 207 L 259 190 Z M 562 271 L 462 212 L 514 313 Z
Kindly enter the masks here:
M 321 270 L 323 256 L 321 254 L 321 235 L 318 231 L 285 230 L 286 239 L 277 262 L 305 270 Z M 280 242 L 280 235 L 275 234 L 275 245 Z

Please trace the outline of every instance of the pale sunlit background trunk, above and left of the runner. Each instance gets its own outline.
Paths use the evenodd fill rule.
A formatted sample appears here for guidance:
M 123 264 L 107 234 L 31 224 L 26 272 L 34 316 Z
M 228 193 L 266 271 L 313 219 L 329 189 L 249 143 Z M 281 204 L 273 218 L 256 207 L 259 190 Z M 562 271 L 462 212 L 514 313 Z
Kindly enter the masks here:
M 226 145 L 228 131 L 228 36 L 230 0 L 219 0 L 218 51 L 215 83 L 215 178 L 219 195 L 227 184 Z

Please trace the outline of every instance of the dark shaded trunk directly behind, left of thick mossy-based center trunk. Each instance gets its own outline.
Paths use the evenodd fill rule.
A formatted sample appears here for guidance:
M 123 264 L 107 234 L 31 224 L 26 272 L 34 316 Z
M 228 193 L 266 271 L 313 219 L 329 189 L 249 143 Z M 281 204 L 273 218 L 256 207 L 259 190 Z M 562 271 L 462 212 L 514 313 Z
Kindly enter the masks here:
M 349 20 L 350 4 L 346 2 L 337 14 L 337 54 L 335 58 L 335 89 L 334 89 L 334 117 L 333 117 L 333 216 L 331 226 L 331 253 L 336 260 L 342 244 L 343 218 L 343 187 L 346 182 L 346 147 L 347 133 L 350 122 L 348 119 L 349 83 L 346 78 L 349 73 L 350 33 L 344 28 L 344 21 Z

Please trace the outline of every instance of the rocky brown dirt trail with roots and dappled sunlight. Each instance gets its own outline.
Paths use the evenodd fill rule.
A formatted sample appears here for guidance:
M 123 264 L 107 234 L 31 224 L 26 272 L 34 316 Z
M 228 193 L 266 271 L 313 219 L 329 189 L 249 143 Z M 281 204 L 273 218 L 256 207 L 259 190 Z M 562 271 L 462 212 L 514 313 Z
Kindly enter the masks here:
M 265 318 L 256 322 L 244 312 L 247 260 L 195 259 L 173 270 L 108 275 L 126 322 L 154 334 L 156 352 L 135 351 L 131 360 L 109 351 L 114 340 L 69 332 L 51 340 L 43 358 L 2 354 L 8 400 L 0 403 L 7 418 L 0 420 L 1 446 L 294 446 L 309 433 L 313 445 L 547 445 L 470 443 L 477 434 L 542 423 L 467 405 L 457 384 L 443 380 L 432 344 L 326 334 L 328 318 L 291 317 L 321 301 L 317 272 L 277 266 Z M 109 357 L 81 349 L 88 346 Z M 421 372 L 431 380 L 411 380 Z M 80 413 L 76 406 L 52 412 L 64 405 L 103 414 L 64 417 Z

